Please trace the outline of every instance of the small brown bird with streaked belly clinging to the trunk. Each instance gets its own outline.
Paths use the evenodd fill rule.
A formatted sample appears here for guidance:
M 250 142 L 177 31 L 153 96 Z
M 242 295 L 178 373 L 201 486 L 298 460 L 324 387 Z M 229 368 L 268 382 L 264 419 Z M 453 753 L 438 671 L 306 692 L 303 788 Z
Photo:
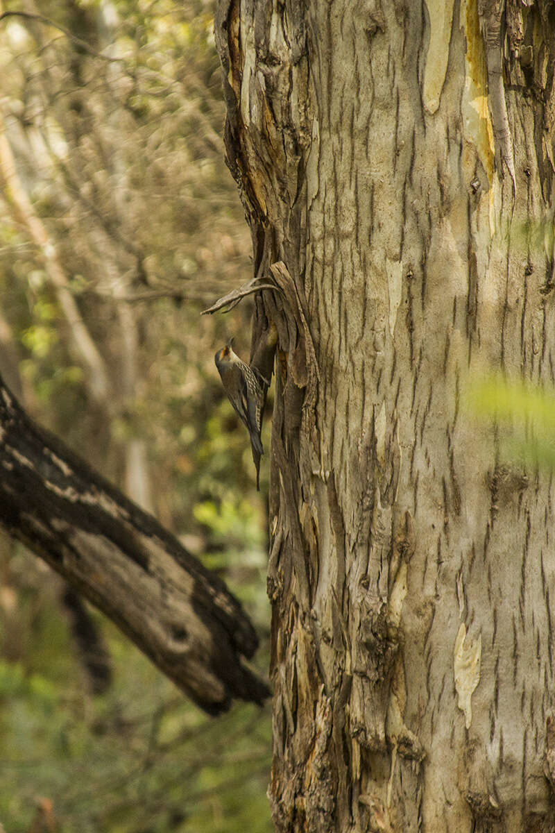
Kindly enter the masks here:
M 256 468 L 256 488 L 260 490 L 260 456 L 264 454 L 260 430 L 269 385 L 255 367 L 250 367 L 241 361 L 233 350 L 233 341 L 234 339 L 230 338 L 225 347 L 216 352 L 214 361 L 225 393 L 237 416 L 245 423 L 249 431 L 252 459 Z

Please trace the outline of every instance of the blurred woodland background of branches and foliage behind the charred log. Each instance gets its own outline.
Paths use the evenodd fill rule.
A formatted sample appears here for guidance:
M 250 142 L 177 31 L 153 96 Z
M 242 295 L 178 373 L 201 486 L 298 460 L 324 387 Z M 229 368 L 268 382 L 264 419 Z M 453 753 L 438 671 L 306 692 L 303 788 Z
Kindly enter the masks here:
M 252 270 L 214 4 L 0 0 L 16 10 L 0 22 L 0 370 L 220 572 L 265 671 L 267 469 L 259 494 L 213 362 L 232 333 L 248 356 L 250 305 L 200 317 Z M 271 829 L 269 709 L 203 716 L 6 538 L 0 750 L 7 833 Z

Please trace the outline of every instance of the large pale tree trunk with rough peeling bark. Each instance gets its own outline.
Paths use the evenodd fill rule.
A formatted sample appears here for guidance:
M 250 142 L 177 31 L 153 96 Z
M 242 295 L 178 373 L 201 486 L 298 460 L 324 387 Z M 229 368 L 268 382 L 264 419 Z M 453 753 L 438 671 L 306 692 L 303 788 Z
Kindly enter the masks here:
M 503 465 L 465 392 L 553 382 L 554 17 L 220 3 L 230 168 L 280 287 L 252 344 L 267 375 L 275 325 L 279 831 L 551 829 L 551 478 Z

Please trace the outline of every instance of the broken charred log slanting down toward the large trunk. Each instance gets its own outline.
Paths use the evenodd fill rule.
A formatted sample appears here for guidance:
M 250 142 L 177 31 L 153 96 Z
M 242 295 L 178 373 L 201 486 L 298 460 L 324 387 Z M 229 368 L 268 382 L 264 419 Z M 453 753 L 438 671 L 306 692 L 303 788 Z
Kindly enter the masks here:
M 32 422 L 0 380 L 0 524 L 106 613 L 209 714 L 269 691 L 225 584 L 155 518 Z

